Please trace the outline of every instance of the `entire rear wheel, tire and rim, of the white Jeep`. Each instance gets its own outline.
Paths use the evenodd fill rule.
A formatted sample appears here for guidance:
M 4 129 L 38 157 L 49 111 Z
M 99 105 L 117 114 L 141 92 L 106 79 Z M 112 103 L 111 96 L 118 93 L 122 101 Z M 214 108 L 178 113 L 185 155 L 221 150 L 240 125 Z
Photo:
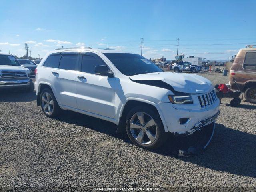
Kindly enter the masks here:
M 60 106 L 58 105 L 52 90 L 49 88 L 42 90 L 40 94 L 40 105 L 47 117 L 52 118 L 60 114 Z

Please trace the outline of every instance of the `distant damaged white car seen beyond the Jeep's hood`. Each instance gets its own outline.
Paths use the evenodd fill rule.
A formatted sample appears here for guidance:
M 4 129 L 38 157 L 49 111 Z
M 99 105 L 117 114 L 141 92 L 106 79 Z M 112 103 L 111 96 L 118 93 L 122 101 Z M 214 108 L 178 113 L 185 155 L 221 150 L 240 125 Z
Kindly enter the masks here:
M 200 70 L 202 70 L 202 66 L 193 65 L 190 62 L 179 61 L 172 64 L 172 69 L 174 72 L 190 71 L 192 73 L 198 73 Z

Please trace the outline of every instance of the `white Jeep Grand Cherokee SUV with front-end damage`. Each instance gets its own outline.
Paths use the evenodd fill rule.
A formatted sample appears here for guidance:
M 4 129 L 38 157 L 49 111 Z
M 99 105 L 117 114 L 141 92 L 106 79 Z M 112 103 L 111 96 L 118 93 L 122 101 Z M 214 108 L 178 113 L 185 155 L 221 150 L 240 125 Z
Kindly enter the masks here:
M 164 72 L 138 55 L 92 48 L 49 52 L 36 70 L 37 103 L 48 117 L 72 110 L 126 129 L 134 144 L 157 148 L 166 132 L 190 135 L 212 125 L 219 100 L 209 80 Z

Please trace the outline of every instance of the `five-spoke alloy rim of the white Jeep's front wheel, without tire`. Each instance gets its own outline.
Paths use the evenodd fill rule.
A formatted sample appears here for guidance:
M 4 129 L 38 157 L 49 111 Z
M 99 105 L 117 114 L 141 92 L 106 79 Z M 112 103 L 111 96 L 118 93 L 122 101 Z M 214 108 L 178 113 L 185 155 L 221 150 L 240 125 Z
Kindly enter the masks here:
M 156 140 L 158 127 L 149 114 L 137 112 L 130 120 L 130 132 L 138 143 L 151 144 Z

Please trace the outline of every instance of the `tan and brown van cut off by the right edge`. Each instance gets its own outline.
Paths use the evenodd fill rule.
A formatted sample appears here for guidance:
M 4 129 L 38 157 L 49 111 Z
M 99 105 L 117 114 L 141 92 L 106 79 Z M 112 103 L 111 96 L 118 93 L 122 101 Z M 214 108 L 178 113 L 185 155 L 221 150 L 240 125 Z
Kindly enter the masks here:
M 240 49 L 229 73 L 231 89 L 238 90 L 234 79 L 246 100 L 256 103 L 256 48 Z

